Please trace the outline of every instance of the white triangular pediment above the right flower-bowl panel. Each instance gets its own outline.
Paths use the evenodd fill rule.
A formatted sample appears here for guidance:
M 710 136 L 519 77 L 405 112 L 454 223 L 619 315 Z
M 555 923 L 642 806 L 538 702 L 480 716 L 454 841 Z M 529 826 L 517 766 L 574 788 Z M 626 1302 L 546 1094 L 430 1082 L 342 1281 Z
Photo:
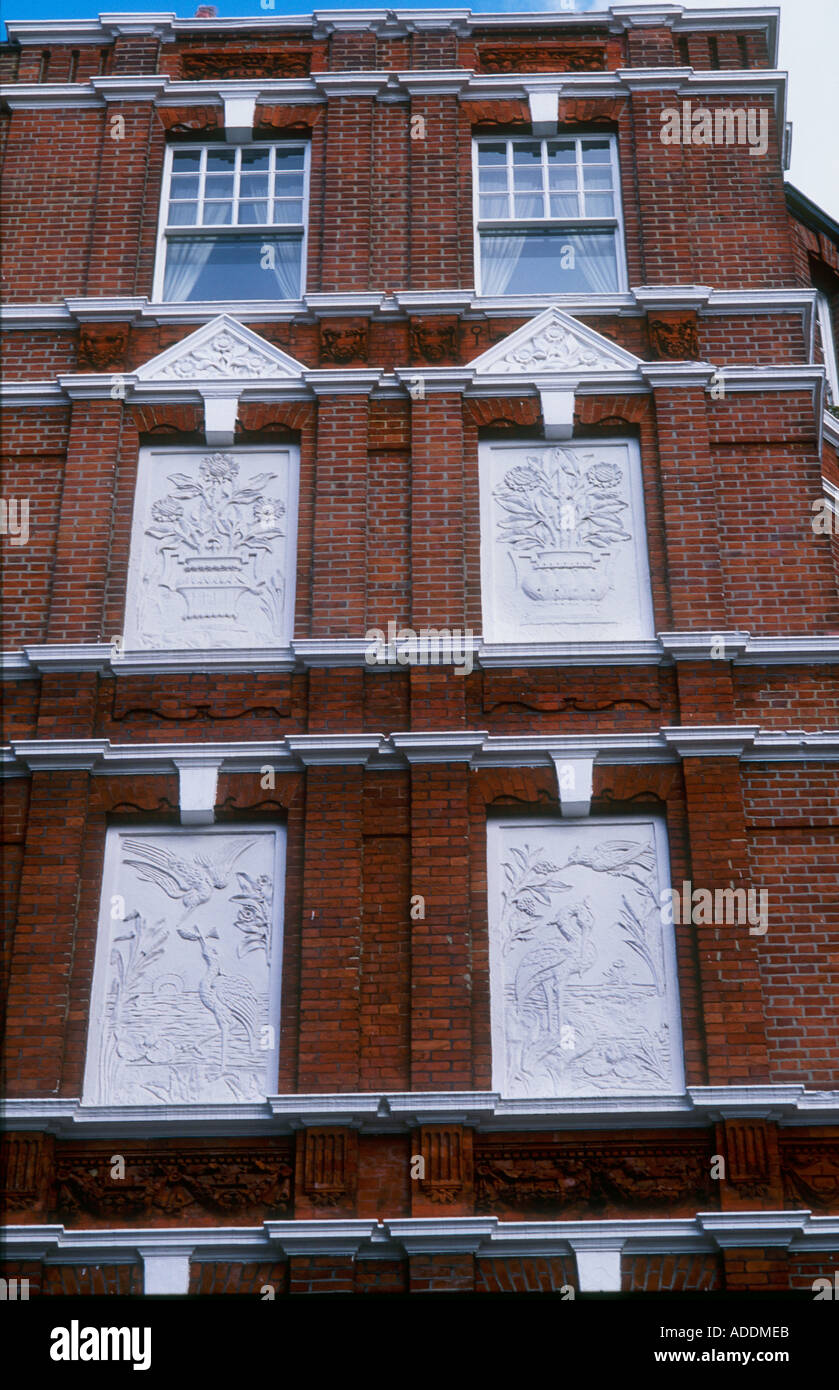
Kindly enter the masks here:
M 543 377 L 636 371 L 640 357 L 578 322 L 554 304 L 470 363 L 476 377 Z

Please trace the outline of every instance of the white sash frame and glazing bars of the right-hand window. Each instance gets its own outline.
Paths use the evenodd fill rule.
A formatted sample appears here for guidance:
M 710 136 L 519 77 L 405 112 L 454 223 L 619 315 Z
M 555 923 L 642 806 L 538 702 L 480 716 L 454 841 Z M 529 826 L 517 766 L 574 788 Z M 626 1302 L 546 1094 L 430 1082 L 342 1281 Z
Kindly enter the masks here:
M 608 140 L 610 143 L 610 168 L 613 178 L 613 197 L 614 197 L 614 217 L 481 217 L 481 192 L 479 192 L 479 175 L 478 175 L 478 150 L 482 145 L 500 145 L 504 142 L 507 145 L 507 197 L 513 199 L 513 181 L 510 178 L 511 171 L 511 146 L 514 142 L 531 140 L 542 143 L 542 178 L 543 190 L 547 189 L 547 170 L 546 170 L 546 146 L 549 140 L 575 140 L 576 143 L 576 182 L 578 189 L 582 189 L 582 149 L 581 140 L 599 139 Z M 481 257 L 481 238 L 483 232 L 493 231 L 513 231 L 514 228 L 524 228 L 525 231 L 601 231 L 608 228 L 615 231 L 615 257 L 617 257 L 617 272 L 618 284 L 610 293 L 622 295 L 629 288 L 629 277 L 626 270 L 626 243 L 624 234 L 624 199 L 621 193 L 621 165 L 618 160 L 618 140 L 617 135 L 604 131 L 563 131 L 558 129 L 556 135 L 539 136 L 528 135 L 521 132 L 520 135 L 476 135 L 472 139 L 472 229 L 474 229 L 474 257 L 475 257 L 475 286 L 478 297 L 483 296 L 483 267 Z M 546 292 L 547 293 L 547 292 Z M 572 291 L 570 292 L 570 299 L 579 299 L 585 292 Z M 589 293 L 593 293 L 589 292 Z M 495 296 L 493 296 L 495 297 Z M 522 297 L 517 295 L 503 296 L 503 297 Z M 550 291 L 551 299 L 561 299 L 563 293 L 560 291 Z

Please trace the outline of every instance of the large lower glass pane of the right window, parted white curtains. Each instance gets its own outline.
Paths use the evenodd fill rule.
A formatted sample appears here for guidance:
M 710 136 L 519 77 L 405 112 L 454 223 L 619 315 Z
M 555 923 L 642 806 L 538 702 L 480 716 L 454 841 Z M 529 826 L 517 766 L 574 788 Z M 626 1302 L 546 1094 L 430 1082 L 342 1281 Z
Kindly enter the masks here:
M 485 232 L 481 275 L 482 295 L 608 293 L 618 288 L 615 234 Z

